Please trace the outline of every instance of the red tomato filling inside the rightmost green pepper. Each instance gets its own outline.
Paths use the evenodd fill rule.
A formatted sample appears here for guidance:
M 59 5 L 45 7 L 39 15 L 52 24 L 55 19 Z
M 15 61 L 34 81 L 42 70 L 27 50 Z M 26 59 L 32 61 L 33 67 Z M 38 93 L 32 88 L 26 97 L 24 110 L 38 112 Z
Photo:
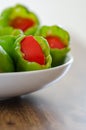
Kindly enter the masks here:
M 60 38 L 56 36 L 47 36 L 46 39 L 49 43 L 50 48 L 58 48 L 58 49 L 65 48 L 63 42 L 60 40 Z

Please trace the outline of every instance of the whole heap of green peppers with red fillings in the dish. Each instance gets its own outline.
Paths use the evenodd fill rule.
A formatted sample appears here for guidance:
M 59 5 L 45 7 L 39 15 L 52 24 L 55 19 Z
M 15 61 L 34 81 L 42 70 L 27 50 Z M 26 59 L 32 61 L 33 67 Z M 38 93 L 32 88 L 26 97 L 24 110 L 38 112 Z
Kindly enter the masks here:
M 69 33 L 57 25 L 39 24 L 36 14 L 20 4 L 0 14 L 0 72 L 41 70 L 64 63 L 70 51 Z

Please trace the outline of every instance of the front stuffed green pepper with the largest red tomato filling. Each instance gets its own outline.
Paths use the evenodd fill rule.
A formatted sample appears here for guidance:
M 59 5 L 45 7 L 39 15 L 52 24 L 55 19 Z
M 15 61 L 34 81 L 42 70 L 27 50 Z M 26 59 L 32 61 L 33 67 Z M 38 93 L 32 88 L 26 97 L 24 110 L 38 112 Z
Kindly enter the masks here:
M 46 39 L 40 36 L 20 36 L 14 43 L 16 71 L 41 70 L 51 67 L 52 58 Z

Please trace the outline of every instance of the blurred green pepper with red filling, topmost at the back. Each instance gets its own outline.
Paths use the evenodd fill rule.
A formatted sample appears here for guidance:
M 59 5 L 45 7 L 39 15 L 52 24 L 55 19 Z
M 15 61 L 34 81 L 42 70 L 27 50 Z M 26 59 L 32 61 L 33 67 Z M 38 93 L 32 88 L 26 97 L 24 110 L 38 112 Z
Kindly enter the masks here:
M 23 20 L 23 22 L 21 20 Z M 28 20 L 30 20 L 29 25 Z M 25 27 L 25 24 L 27 28 Z M 23 28 L 26 28 L 25 30 L 22 30 L 24 31 L 24 34 L 30 35 L 35 33 L 36 29 L 38 28 L 38 25 L 39 20 L 36 14 L 29 11 L 25 6 L 20 4 L 14 7 L 9 7 L 1 13 L 0 27 L 10 27 L 13 29 L 15 28 L 22 30 L 21 26 L 23 26 Z

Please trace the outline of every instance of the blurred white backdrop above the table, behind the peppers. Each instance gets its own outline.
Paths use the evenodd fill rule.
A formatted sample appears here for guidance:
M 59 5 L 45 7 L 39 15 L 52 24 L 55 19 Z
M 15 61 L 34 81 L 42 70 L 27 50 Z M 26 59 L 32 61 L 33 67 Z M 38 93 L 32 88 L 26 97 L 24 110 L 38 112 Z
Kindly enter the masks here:
M 0 12 L 17 3 L 39 16 L 42 25 L 57 24 L 69 31 L 71 42 L 86 47 L 86 0 L 0 0 Z

